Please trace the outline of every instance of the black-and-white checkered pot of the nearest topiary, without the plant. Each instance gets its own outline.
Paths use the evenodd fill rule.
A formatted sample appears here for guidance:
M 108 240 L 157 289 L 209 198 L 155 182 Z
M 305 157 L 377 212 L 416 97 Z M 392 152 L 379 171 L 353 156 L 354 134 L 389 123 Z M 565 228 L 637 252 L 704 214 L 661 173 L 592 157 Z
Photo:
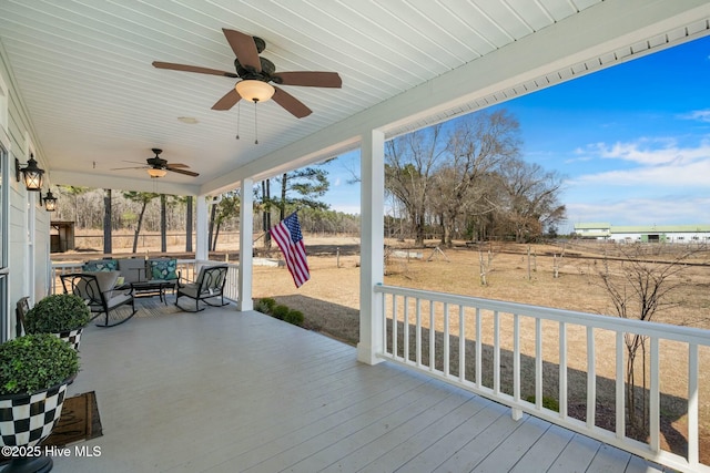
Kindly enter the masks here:
M 47 439 L 59 421 L 68 381 L 33 394 L 0 397 L 2 445 L 36 446 Z

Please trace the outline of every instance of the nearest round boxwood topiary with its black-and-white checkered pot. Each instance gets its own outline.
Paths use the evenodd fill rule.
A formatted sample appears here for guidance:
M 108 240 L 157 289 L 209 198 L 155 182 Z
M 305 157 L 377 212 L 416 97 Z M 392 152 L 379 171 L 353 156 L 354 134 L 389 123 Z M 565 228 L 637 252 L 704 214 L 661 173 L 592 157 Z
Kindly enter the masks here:
M 79 354 L 51 333 L 0 345 L 0 440 L 12 457 L 6 472 L 50 471 L 40 443 L 59 421 L 67 385 L 79 372 Z

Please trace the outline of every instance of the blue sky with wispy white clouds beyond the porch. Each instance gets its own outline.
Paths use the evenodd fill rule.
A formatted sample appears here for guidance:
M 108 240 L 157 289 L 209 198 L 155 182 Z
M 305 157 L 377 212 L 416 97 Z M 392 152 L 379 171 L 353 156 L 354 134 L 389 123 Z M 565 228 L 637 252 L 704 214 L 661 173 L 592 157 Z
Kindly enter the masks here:
M 498 107 L 520 122 L 523 157 L 565 176 L 569 230 L 578 222 L 710 224 L 710 38 Z M 359 185 L 347 184 L 358 153 L 326 168 L 332 208 L 359 213 Z

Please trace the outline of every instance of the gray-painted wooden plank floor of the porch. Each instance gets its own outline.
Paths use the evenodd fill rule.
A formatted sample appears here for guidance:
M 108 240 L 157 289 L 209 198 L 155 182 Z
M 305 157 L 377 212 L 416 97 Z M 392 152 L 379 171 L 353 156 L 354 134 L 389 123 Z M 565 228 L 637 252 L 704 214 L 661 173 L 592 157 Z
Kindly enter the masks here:
M 136 304 L 82 337 L 69 395 L 97 392 L 101 454 L 54 472 L 662 471 L 257 312 Z

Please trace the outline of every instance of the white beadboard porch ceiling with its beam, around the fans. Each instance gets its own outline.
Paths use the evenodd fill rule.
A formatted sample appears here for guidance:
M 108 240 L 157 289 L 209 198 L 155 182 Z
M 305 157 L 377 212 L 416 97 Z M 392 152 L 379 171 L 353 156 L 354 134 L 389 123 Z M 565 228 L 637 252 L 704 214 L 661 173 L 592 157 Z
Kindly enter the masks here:
M 204 194 L 353 148 L 369 127 L 394 136 L 706 35 L 709 3 L 0 0 L 0 52 L 54 184 L 155 188 L 111 169 L 159 147 L 200 173 L 169 173 L 162 192 Z M 270 101 L 255 116 L 211 110 L 235 79 L 151 65 L 234 72 L 223 28 L 263 38 L 277 71 L 338 72 L 343 88 L 284 85 L 313 114 Z

